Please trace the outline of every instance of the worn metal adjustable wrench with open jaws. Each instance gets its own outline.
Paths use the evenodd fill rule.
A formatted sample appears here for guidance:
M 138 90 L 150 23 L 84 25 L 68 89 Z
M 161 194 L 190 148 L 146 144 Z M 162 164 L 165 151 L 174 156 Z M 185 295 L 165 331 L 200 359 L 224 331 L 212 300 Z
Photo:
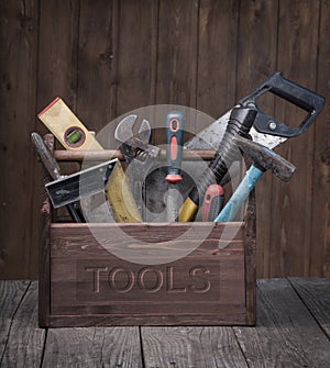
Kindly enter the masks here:
M 151 125 L 145 119 L 140 123 L 138 133 L 134 134 L 133 129 L 138 126 L 139 116 L 130 114 L 121 120 L 114 131 L 114 138 L 121 143 L 120 150 L 129 164 L 125 174 L 129 178 L 129 185 L 140 210 L 142 219 L 145 219 L 145 204 L 143 198 L 144 182 L 157 164 L 157 157 L 161 148 L 151 145 Z

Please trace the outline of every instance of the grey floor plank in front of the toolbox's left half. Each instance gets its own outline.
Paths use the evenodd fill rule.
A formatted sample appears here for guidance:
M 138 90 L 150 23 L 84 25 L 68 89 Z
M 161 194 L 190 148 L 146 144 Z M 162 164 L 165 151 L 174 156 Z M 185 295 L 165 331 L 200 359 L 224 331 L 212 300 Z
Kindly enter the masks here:
M 43 367 L 141 368 L 139 327 L 50 328 Z

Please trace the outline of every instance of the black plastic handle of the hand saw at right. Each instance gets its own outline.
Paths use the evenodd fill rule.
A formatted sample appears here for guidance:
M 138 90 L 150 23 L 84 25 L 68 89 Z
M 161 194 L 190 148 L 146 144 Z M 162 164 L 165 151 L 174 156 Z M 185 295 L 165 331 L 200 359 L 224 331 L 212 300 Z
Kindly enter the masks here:
M 308 114 L 299 126 L 288 126 L 275 118 L 264 113 L 256 107 L 256 99 L 267 92 L 272 92 L 273 94 L 276 94 L 279 98 L 307 111 Z M 256 107 L 257 114 L 253 125 L 257 132 L 289 138 L 300 135 L 308 129 L 308 126 L 322 111 L 324 102 L 324 98 L 320 94 L 317 94 L 311 90 L 284 78 L 282 73 L 277 71 L 254 92 L 242 99 L 239 103 L 243 107 L 249 107 L 251 103 Z

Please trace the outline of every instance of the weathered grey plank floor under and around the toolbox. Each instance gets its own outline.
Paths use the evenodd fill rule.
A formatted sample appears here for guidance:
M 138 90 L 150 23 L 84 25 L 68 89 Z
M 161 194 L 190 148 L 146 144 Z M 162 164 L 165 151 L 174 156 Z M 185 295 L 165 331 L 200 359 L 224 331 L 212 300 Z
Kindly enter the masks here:
M 256 327 L 38 328 L 37 282 L 0 281 L 1 367 L 330 367 L 330 279 L 257 282 Z

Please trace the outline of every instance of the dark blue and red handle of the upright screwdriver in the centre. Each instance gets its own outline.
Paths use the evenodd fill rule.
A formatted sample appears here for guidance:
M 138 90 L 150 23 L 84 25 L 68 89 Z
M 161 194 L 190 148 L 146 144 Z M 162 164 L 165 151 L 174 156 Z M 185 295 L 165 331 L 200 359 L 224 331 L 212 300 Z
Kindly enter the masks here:
M 183 145 L 185 132 L 185 118 L 179 111 L 172 111 L 166 118 L 166 154 L 168 182 L 178 182 L 183 179 L 180 176 Z

